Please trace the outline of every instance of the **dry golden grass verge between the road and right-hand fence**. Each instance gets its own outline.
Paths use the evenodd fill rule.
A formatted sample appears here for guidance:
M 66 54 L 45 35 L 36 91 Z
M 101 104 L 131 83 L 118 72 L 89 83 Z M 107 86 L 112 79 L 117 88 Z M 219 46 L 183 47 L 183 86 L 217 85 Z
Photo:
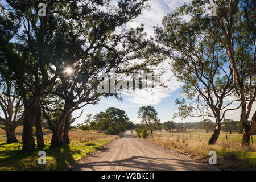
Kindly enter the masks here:
M 155 134 L 147 138 L 149 142 L 179 151 L 183 154 L 192 155 L 196 159 L 208 162 L 209 151 L 216 151 L 217 164 L 225 169 L 255 170 L 256 150 L 255 147 L 240 147 L 239 142 L 231 140 L 218 140 L 214 145 L 207 145 L 207 140 L 190 140 L 190 137 L 177 135 Z

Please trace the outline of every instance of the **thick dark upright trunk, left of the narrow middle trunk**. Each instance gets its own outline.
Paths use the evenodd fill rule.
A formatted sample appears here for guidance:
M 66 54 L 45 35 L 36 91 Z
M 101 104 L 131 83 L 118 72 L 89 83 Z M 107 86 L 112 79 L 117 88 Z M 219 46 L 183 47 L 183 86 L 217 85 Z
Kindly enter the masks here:
M 26 109 L 25 107 L 25 114 L 23 119 L 23 133 L 22 133 L 22 151 L 23 152 L 30 152 L 33 150 L 33 122 L 35 119 L 35 109 Z

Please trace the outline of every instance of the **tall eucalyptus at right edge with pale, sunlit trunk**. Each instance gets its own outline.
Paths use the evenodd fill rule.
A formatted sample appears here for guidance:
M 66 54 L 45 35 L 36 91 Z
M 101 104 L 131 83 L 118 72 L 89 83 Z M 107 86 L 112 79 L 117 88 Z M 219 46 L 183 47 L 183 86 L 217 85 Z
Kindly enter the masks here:
M 243 127 L 241 145 L 250 145 L 250 135 L 256 128 L 256 111 L 251 118 L 256 99 L 255 67 L 255 2 L 250 0 L 213 1 L 217 5 L 216 16 L 209 16 L 210 1 L 192 1 L 181 7 L 191 16 L 190 27 L 201 27 L 201 34 L 217 40 L 223 47 L 232 68 L 234 91 L 241 104 L 240 122 Z

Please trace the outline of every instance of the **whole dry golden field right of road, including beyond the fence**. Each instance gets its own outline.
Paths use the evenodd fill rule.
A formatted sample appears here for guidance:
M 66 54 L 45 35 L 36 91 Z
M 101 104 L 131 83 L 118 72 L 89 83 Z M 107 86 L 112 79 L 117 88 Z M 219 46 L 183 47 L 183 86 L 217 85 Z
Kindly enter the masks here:
M 217 164 L 226 169 L 256 169 L 256 143 L 254 146 L 241 148 L 241 134 L 221 133 L 216 144 L 207 145 L 212 132 L 208 134 L 200 131 L 184 131 L 174 133 L 156 132 L 152 137 L 148 137 L 149 142 L 160 146 L 179 151 L 183 154 L 193 156 L 197 159 L 208 162 L 209 151 L 216 151 Z M 191 135 L 191 139 L 190 139 Z M 200 139 L 199 139 L 200 135 Z M 255 136 L 253 140 L 256 141 Z

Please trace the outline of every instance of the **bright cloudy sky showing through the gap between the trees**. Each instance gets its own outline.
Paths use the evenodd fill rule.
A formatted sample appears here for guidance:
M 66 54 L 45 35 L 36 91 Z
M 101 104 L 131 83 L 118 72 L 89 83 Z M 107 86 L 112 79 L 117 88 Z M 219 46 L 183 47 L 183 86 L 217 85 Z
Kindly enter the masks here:
M 183 5 L 187 0 L 151 0 L 151 8 L 145 10 L 141 16 L 135 19 L 133 22 L 127 24 L 127 27 L 137 27 L 140 24 L 144 24 L 145 31 L 148 36 L 154 35 L 154 26 L 161 26 L 162 18 L 167 13 L 170 13 L 176 7 Z M 185 17 L 186 18 L 186 17 Z M 171 81 L 168 82 L 168 89 L 165 91 L 160 90 L 159 92 L 151 95 L 150 93 L 143 90 L 136 90 L 133 94 L 127 95 L 122 94 L 123 101 L 119 102 L 115 98 L 102 98 L 102 100 L 97 105 L 87 105 L 84 108 L 84 113 L 76 123 L 82 123 L 86 117 L 86 114 L 92 113 L 97 114 L 100 111 L 105 111 L 108 107 L 117 107 L 126 111 L 126 114 L 134 123 L 139 123 L 137 119 L 137 112 L 139 107 L 142 105 L 152 105 L 158 111 L 158 118 L 161 122 L 170 121 L 172 115 L 177 111 L 177 106 L 174 104 L 176 98 L 180 98 L 182 83 L 177 82 L 172 76 L 171 72 L 168 72 L 166 77 L 171 78 Z M 253 111 L 255 111 L 256 105 L 254 104 Z M 73 115 L 79 115 L 81 110 L 75 111 Z M 226 118 L 238 120 L 240 115 L 240 109 L 230 111 L 226 113 Z M 214 122 L 214 118 L 210 118 Z M 175 122 L 198 122 L 201 118 L 192 118 L 181 120 L 180 118 L 175 119 Z

